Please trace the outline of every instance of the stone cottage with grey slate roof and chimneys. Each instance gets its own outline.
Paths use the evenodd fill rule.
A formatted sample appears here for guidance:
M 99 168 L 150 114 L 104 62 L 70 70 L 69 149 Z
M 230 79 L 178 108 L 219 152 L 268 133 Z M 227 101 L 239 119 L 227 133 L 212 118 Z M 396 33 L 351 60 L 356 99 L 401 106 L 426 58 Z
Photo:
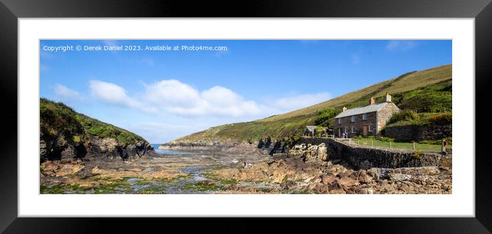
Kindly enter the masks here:
M 342 137 L 344 132 L 348 137 L 377 135 L 393 113 L 399 110 L 400 108 L 391 102 L 391 96 L 388 93 L 381 103 L 374 102 L 371 97 L 367 106 L 352 109 L 344 106 L 342 113 L 335 116 L 334 134 L 337 137 Z

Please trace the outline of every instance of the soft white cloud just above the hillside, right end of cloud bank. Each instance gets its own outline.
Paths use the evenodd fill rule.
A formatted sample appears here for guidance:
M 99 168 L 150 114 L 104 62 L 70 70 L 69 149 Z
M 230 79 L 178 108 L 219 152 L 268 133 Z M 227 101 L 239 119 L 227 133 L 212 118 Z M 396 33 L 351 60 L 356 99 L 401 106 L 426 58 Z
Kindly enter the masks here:
M 284 111 L 297 110 L 307 106 L 312 106 L 320 102 L 325 102 L 331 99 L 331 94 L 327 92 L 314 94 L 300 94 L 289 97 L 282 97 L 273 102 L 273 107 Z

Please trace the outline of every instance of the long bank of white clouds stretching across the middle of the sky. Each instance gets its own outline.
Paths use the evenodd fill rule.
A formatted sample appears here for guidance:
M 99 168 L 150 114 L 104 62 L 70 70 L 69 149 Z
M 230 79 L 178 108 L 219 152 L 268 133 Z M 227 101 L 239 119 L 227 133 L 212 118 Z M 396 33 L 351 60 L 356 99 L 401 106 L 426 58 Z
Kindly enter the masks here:
M 180 117 L 260 118 L 304 108 L 331 98 L 330 93 L 324 92 L 290 95 L 270 100 L 267 104 L 257 104 L 223 86 L 199 91 L 179 80 L 160 80 L 144 86 L 142 95 L 132 98 L 117 84 L 99 80 L 89 82 L 92 97 L 100 102 Z

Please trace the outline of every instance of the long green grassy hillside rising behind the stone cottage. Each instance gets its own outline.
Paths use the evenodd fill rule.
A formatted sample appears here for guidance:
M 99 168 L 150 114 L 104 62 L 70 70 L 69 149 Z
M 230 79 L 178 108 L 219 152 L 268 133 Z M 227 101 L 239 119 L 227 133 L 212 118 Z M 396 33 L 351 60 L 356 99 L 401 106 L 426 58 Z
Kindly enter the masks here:
M 208 130 L 181 137 L 175 141 L 200 140 L 240 140 L 257 141 L 260 138 L 297 139 L 304 132 L 306 125 L 315 124 L 327 108 L 338 110 L 342 106 L 353 108 L 368 104 L 370 97 L 378 102 L 386 93 L 394 96 L 393 102 L 407 109 L 416 111 L 440 112 L 451 109 L 451 65 L 444 65 L 412 71 L 399 77 L 373 84 L 346 95 L 313 106 L 294 110 L 283 115 L 274 115 L 256 121 L 226 124 Z M 432 96 L 435 102 L 422 104 L 426 97 Z M 421 105 L 422 104 L 422 105 Z M 423 109 L 421 106 L 425 106 Z M 325 111 L 326 112 L 326 111 Z

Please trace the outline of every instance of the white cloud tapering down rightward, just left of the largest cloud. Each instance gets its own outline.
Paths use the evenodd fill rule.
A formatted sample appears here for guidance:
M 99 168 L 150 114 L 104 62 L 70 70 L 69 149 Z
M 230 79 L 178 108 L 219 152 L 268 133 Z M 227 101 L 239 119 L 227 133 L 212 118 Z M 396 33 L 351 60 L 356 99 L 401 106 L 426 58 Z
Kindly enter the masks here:
M 92 97 L 101 102 L 155 112 L 155 108 L 147 108 L 146 105 L 126 95 L 126 91 L 117 84 L 100 80 L 90 80 L 89 89 L 91 90 Z

